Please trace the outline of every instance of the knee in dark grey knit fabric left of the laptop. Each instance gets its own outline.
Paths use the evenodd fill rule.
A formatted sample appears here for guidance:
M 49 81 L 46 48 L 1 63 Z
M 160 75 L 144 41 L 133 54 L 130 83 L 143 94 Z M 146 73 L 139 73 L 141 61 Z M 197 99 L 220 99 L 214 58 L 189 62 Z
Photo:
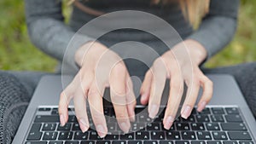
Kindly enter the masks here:
M 43 72 L 0 71 L 0 141 L 10 143 Z

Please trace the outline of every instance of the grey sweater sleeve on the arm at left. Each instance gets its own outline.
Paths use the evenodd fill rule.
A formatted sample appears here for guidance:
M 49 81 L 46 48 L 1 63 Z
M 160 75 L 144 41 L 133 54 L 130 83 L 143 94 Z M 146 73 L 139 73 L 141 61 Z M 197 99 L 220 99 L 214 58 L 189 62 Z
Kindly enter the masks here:
M 26 0 L 26 25 L 32 43 L 44 53 L 63 63 L 79 67 L 74 60 L 76 49 L 66 49 L 75 32 L 64 23 L 61 10 L 61 0 Z M 90 37 L 80 36 L 83 42 L 90 41 Z M 66 54 L 65 54 L 66 53 Z M 64 58 L 65 55 L 65 58 Z

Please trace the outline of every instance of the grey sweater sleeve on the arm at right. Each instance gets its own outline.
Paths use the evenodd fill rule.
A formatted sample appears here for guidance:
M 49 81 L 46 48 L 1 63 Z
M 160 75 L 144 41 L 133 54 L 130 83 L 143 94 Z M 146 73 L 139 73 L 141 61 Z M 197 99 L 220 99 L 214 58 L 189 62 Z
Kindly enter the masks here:
M 188 38 L 207 49 L 207 59 L 230 43 L 236 32 L 239 0 L 211 0 L 209 13 Z

